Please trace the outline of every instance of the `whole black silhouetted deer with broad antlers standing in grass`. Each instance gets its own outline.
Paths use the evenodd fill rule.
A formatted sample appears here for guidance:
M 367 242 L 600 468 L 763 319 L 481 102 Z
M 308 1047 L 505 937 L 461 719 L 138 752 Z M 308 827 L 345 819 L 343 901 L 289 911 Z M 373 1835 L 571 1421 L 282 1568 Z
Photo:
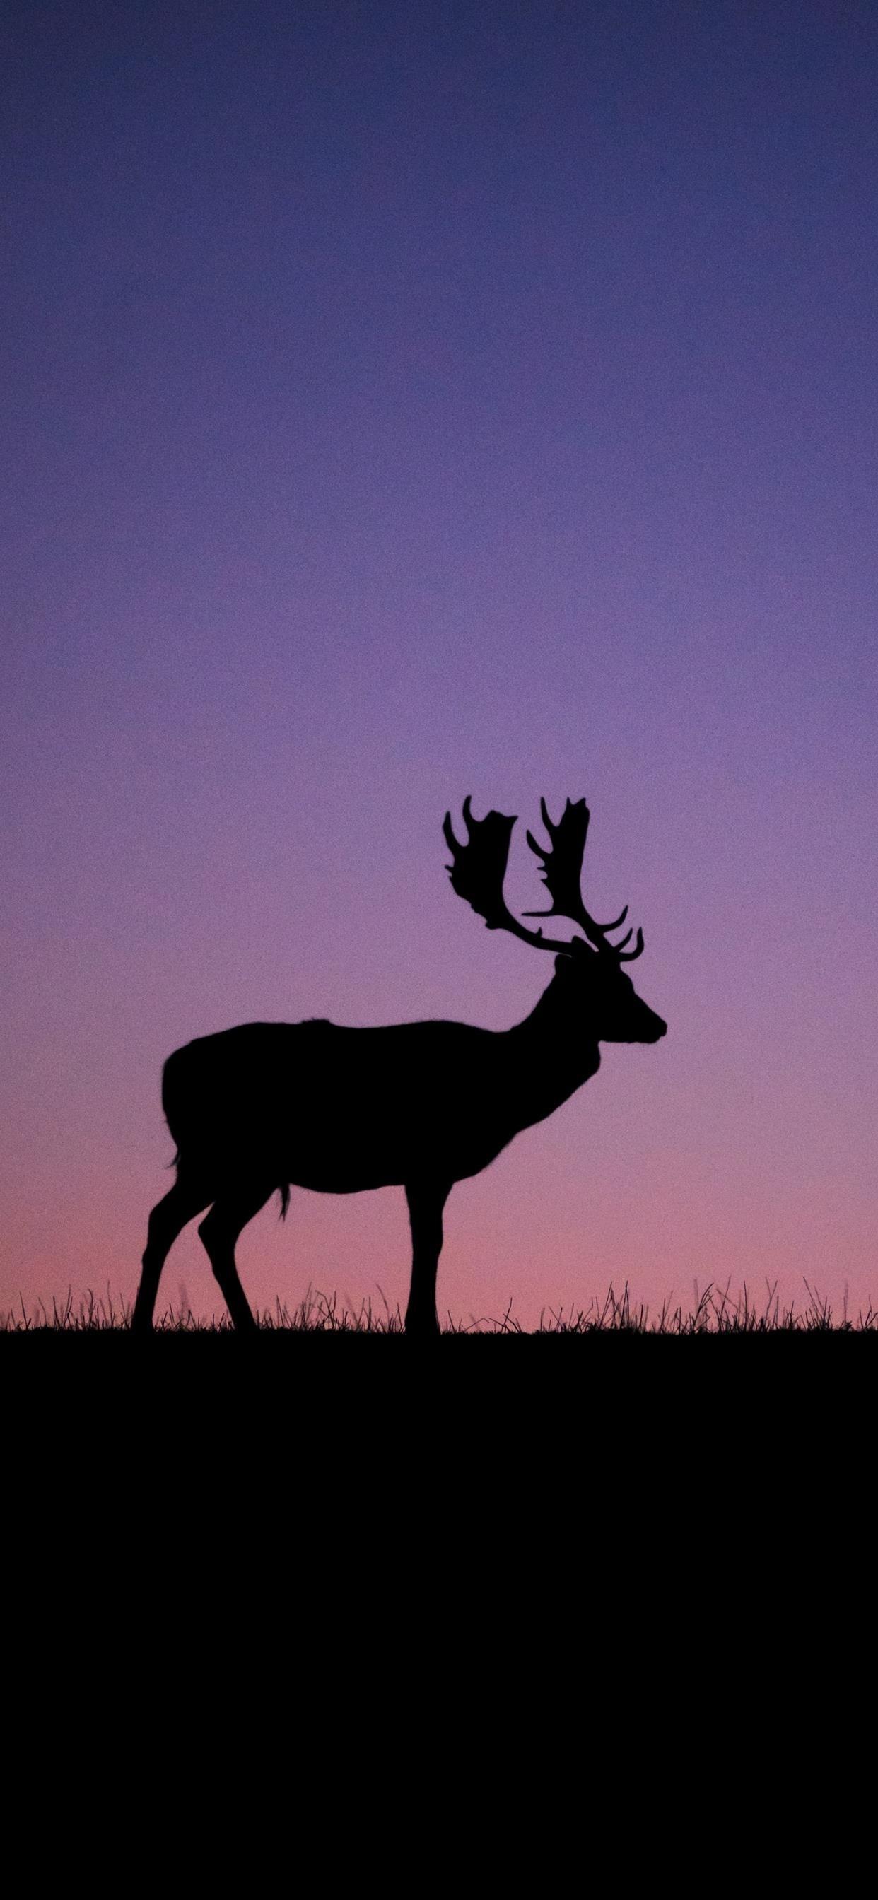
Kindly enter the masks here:
M 635 994 L 623 963 L 642 952 L 642 931 L 610 942 L 627 918 L 595 923 L 580 882 L 589 809 L 566 800 L 557 825 L 540 802 L 549 836 L 542 861 L 551 897 L 530 918 L 561 916 L 583 935 L 544 937 L 515 918 L 504 878 L 515 817 L 473 819 L 464 800 L 466 844 L 450 813 L 443 832 L 458 897 L 492 931 L 511 931 L 555 952 L 555 975 L 536 1009 L 511 1030 L 464 1022 L 399 1022 L 353 1030 L 334 1022 L 243 1022 L 177 1049 L 162 1075 L 162 1106 L 177 1142 L 177 1180 L 152 1208 L 133 1332 L 150 1332 L 162 1267 L 186 1222 L 209 1208 L 200 1237 L 236 1328 L 255 1328 L 238 1279 L 236 1243 L 247 1222 L 291 1186 L 359 1193 L 401 1186 L 412 1231 L 407 1334 L 439 1332 L 435 1275 L 443 1208 L 454 1182 L 481 1174 L 534 1123 L 544 1121 L 601 1066 L 599 1043 L 656 1043 L 667 1030 Z

